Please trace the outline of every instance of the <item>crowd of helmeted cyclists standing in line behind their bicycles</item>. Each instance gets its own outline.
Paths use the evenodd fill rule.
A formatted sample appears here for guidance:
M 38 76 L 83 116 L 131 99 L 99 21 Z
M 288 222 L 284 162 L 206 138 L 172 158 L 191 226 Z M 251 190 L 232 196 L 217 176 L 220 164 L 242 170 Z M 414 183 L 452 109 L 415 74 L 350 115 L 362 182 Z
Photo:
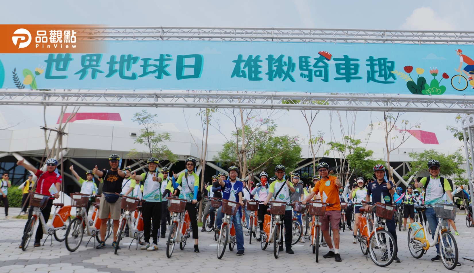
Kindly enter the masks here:
M 241 207 L 239 209 L 240 217 L 237 214 L 231 220 L 236 232 L 237 255 L 243 255 L 245 252 L 244 228 L 249 229 L 251 225 L 249 216 L 252 211 L 246 209 L 246 200 L 253 199 L 260 203 L 257 211 L 260 232 L 257 232 L 256 241 L 262 240 L 261 236 L 264 233 L 264 225 L 262 223 L 264 223 L 265 215 L 270 214 L 269 205 L 271 201 L 284 202 L 288 205 L 293 202 L 301 202 L 304 205 L 309 201 L 318 200 L 328 205 L 325 215 L 319 218 L 322 235 L 329 249 L 328 253 L 323 255 L 323 257 L 334 258 L 336 262 L 342 261 L 341 254 L 344 253 L 341 250 L 339 234 L 341 226 L 345 228 L 346 225 L 349 230 L 353 231 L 354 239 L 352 243 L 356 244 L 358 241 L 357 231 L 360 225 L 358 218 L 361 215 L 361 210 L 371 209 L 367 203 L 401 205 L 403 207 L 403 230 L 406 230 L 408 218 L 410 218 L 411 223 L 414 222 L 416 206 L 423 206 L 424 204 L 433 205 L 436 203 L 449 204 L 453 201 L 453 186 L 447 179 L 440 176 L 441 166 L 438 160 L 429 160 L 427 167 L 430 175 L 422 178 L 419 182 L 415 180 L 414 184 L 409 185 L 405 192 L 402 191 L 401 187 L 396 187 L 392 181 L 386 179 L 385 167 L 380 164 L 375 165 L 373 168 L 375 179 L 365 181 L 364 178 L 359 177 L 355 179 L 354 183 L 347 182 L 345 186 L 336 176 L 330 175 L 330 167 L 325 162 L 318 164 L 318 175 L 312 177 L 311 185 L 304 185 L 300 174 L 297 172 L 290 172 L 289 179 L 287 179 L 286 168 L 283 165 L 275 167 L 274 175 L 269 175 L 267 172 L 262 171 L 259 174 L 259 182 L 255 185 L 250 176 L 247 181 L 246 179 L 239 179 L 238 167 L 230 166 L 228 173 L 220 172 L 218 175 L 212 176 L 212 182 L 205 185 L 201 193 L 200 179 L 195 172 L 197 162 L 191 157 L 185 160 L 186 169 L 179 173 L 179 175 L 174 172 L 170 173 L 171 170 L 169 168 L 159 168 L 159 161 L 153 157 L 146 161 L 147 171 L 138 175 L 136 171 L 129 167 L 120 169 L 119 162 L 121 162 L 120 157 L 117 154 L 112 154 L 109 156 L 108 168 L 104 169 L 95 166 L 93 169 L 85 172 L 85 179 L 73 169 L 73 166 L 70 167 L 73 176 L 82 185 L 81 194 L 95 197 L 98 192 L 95 178 L 99 178 L 99 183 L 102 183 L 100 212 L 98 215 L 102 222 L 100 224 L 100 244 L 96 246 L 97 249 L 106 247 L 108 218 L 113 223 L 113 242 L 111 247 L 115 249 L 120 248 L 117 243 L 117 235 L 119 220 L 122 215 L 120 201 L 121 198 L 124 198 L 123 196 L 139 198 L 141 200 L 144 232 L 141 249 L 146 251 L 158 250 L 158 236 L 161 235 L 162 238 L 166 236 L 166 227 L 170 224 L 170 212 L 167 209 L 169 202 L 167 198 L 181 198 L 187 201 L 185 210 L 189 214 L 195 253 L 200 252 L 197 209 L 197 206 L 201 204 L 200 201 L 204 197 L 208 197 L 238 203 Z M 53 200 L 59 198 L 59 191 L 63 182 L 56 168 L 58 161 L 55 159 L 46 160 L 46 171 L 36 169 L 26 164 L 24 160 L 19 160 L 17 164 L 34 173 L 37 177 L 36 183 L 31 182 L 27 188 L 32 194 L 39 193 L 50 196 L 46 206 L 41 210 L 47 222 L 53 206 Z M 28 191 L 25 194 L 28 194 Z M 89 211 L 93 200 L 95 198 L 91 198 L 87 204 L 86 211 Z M 341 214 L 341 204 L 345 205 L 343 214 Z M 346 204 L 348 204 L 347 207 Z M 221 210 L 222 207 L 216 209 L 211 206 L 211 202 L 207 202 L 203 208 L 203 219 L 206 219 L 208 216 L 210 217 L 210 225 L 218 235 L 223 218 Z M 353 226 L 352 213 L 354 213 Z M 438 225 L 438 218 L 433 207 L 426 207 L 426 209 L 418 213 L 423 213 L 423 218 L 426 219 L 430 227 Z M 346 221 L 341 221 L 341 215 L 344 214 L 346 217 L 343 218 Z M 32 207 L 30 207 L 28 217 L 30 218 L 31 216 Z M 217 217 L 216 222 L 214 222 L 214 217 Z M 283 251 L 285 249 L 287 254 L 294 254 L 292 250 L 293 217 L 297 217 L 302 224 L 301 214 L 293 212 L 292 206 L 286 206 L 286 210 L 282 215 L 285 243 L 283 247 L 282 233 L 282 244 L 279 245 L 279 250 Z M 243 218 L 246 220 L 246 226 L 241 226 Z M 422 218 L 420 217 L 420 219 Z M 397 222 L 397 219 L 392 217 L 391 219 L 386 219 L 385 226 L 395 242 L 393 261 L 400 263 L 397 249 L 399 249 L 398 245 L 401 242 L 397 240 Z M 214 226 L 213 223 L 216 223 L 216 225 Z M 456 235 L 459 235 L 454 221 L 451 220 L 449 224 L 453 226 Z M 26 230 L 27 226 L 25 226 Z M 205 231 L 204 226 L 201 231 Z M 252 236 L 252 234 L 249 235 L 248 233 L 246 235 Z M 38 226 L 35 236 L 35 247 L 40 245 L 42 237 L 42 227 Z M 434 238 L 434 232 L 432 237 Z M 304 236 L 301 236 L 300 242 L 305 243 Z M 22 245 L 20 245 L 21 247 Z M 440 260 L 438 244 L 436 249 L 437 255 L 431 259 L 432 261 Z M 460 265 L 459 263 L 457 264 Z

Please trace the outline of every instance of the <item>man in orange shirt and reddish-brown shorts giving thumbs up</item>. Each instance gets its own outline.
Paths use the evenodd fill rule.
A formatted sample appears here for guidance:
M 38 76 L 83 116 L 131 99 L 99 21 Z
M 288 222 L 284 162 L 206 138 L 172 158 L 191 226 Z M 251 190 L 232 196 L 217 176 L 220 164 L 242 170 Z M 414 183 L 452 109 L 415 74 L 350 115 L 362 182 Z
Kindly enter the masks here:
M 341 182 L 335 176 L 329 176 L 328 163 L 321 162 L 318 164 L 318 172 L 321 179 L 314 184 L 311 193 L 304 198 L 303 204 L 311 200 L 317 193 L 321 194 L 321 201 L 329 203 L 326 207 L 326 214 L 320 217 L 321 231 L 323 232 L 324 240 L 328 243 L 329 252 L 323 255 L 324 258 L 333 258 L 336 262 L 341 262 L 341 255 L 339 254 L 339 222 L 341 221 L 341 200 L 339 199 L 339 188 Z M 334 247 L 329 235 L 329 222 L 334 239 Z

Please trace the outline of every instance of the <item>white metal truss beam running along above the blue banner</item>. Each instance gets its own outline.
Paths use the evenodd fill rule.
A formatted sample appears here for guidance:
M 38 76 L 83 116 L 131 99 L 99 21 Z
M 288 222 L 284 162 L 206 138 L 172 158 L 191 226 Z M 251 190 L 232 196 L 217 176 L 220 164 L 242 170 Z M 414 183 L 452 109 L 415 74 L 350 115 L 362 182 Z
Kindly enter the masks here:
M 473 31 L 336 28 L 95 27 L 79 29 L 91 41 L 273 41 L 328 43 L 472 44 Z

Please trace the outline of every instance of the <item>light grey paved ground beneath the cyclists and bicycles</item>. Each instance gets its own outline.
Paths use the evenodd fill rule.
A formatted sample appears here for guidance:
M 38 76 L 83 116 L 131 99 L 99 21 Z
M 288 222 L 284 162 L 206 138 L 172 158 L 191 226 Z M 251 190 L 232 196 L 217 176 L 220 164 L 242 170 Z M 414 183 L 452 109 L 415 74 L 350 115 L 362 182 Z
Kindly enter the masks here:
M 3 213 L 0 209 L 0 215 Z M 16 209 L 11 209 L 12 216 L 18 215 Z M 456 236 L 460 256 L 474 256 L 474 228 L 467 228 L 465 225 L 465 215 L 458 215 L 457 228 L 460 236 Z M 110 248 L 111 242 L 107 242 L 106 249 L 96 250 L 90 245 L 86 248 L 85 242 L 74 253 L 70 253 L 64 246 L 53 240 L 53 246 L 49 246 L 49 239 L 45 246 L 33 248 L 28 247 L 23 252 L 18 249 L 23 227 L 26 220 L 2 219 L 0 220 L 0 273 L 6 272 L 61 272 L 61 273 L 94 273 L 94 272 L 237 272 L 255 271 L 258 272 L 281 272 L 288 271 L 310 272 L 447 272 L 441 262 L 431 262 L 430 258 L 435 254 L 434 249 L 430 249 L 428 254 L 421 259 L 414 259 L 407 248 L 407 232 L 398 233 L 399 254 L 401 264 L 380 268 L 370 259 L 366 260 L 361 254 L 359 244 L 352 244 L 352 236 L 346 230 L 341 232 L 341 256 L 343 261 L 337 263 L 334 259 L 324 259 L 320 257 L 319 264 L 314 261 L 314 254 L 311 253 L 309 243 L 297 244 L 293 246 L 295 254 L 281 253 L 278 259 L 273 257 L 273 248 L 268 247 L 262 251 L 259 244 L 248 244 L 248 236 L 245 236 L 245 255 L 236 256 L 234 251 L 226 250 L 224 257 L 218 260 L 216 257 L 216 244 L 212 240 L 210 233 L 200 232 L 201 253 L 192 252 L 191 245 L 186 245 L 184 250 L 176 247 L 172 258 L 166 258 L 165 241 L 159 243 L 159 250 L 156 252 L 146 252 L 126 247 L 119 251 L 118 255 Z M 85 239 L 85 237 L 84 237 Z M 87 241 L 87 240 L 86 240 Z M 192 241 L 192 240 L 191 240 Z M 124 245 L 130 242 L 126 237 Z M 128 246 L 127 244 L 127 246 Z M 124 246 L 122 245 L 122 246 Z M 132 245 L 133 246 L 133 245 Z M 328 249 L 322 249 L 325 254 Z M 456 267 L 456 272 L 474 272 L 474 262 L 460 258 L 463 264 Z

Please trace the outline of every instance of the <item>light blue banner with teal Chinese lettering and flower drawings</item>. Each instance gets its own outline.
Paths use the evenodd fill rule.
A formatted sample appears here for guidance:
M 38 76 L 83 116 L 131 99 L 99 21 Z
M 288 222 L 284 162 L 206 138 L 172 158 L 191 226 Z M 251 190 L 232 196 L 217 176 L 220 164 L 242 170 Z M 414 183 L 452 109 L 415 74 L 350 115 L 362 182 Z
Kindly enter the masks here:
M 0 54 L 0 88 L 474 94 L 472 46 L 102 43 L 107 53 Z

